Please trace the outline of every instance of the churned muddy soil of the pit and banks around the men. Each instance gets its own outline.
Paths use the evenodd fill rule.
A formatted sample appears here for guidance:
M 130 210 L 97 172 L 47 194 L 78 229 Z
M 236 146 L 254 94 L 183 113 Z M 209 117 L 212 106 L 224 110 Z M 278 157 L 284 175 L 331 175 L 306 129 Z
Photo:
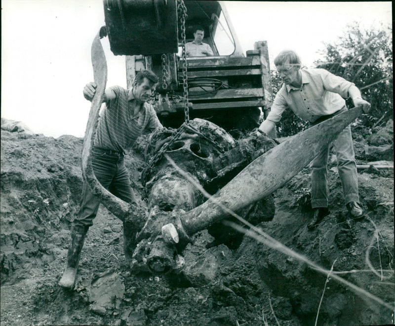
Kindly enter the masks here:
M 393 165 L 392 121 L 374 130 L 354 125 L 353 133 L 357 164 Z M 73 136 L 1 130 L 1 326 L 307 326 L 317 312 L 317 325 L 392 323 L 393 311 L 377 300 L 248 236 L 228 247 L 199 232 L 182 253 L 182 271 L 131 273 L 122 223 L 103 206 L 85 240 L 76 288 L 60 288 L 82 186 L 81 148 L 82 139 Z M 141 155 L 128 155 L 127 166 L 145 201 Z M 258 227 L 394 307 L 393 170 L 359 170 L 367 215 L 353 221 L 332 159 L 330 215 L 314 231 L 306 227 L 309 173 L 305 168 L 273 193 L 274 218 Z

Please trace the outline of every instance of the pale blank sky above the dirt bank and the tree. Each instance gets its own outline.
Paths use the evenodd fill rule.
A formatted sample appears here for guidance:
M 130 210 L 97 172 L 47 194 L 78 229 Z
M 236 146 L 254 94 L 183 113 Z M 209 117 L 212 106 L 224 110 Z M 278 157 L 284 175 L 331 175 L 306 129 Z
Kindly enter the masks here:
M 392 24 L 391 1 L 226 4 L 244 53 L 268 41 L 272 68 L 285 48 L 311 67 L 323 43 L 333 43 L 353 21 L 363 28 Z M 2 0 L 1 117 L 45 136 L 83 137 L 90 102 L 82 89 L 93 79 L 90 47 L 103 25 L 102 0 Z M 124 57 L 105 51 L 107 85 L 126 87 Z

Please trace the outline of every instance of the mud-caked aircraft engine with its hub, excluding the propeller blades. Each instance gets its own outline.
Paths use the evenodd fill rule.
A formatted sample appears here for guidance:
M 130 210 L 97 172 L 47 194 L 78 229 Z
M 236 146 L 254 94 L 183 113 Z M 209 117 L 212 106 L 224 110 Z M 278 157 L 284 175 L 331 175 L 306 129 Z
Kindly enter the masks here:
M 173 142 L 166 154 L 188 173 L 194 183 L 211 193 L 217 192 L 254 158 L 275 146 L 273 140 L 258 138 L 255 133 L 235 141 L 222 128 L 203 119 L 191 120 L 190 126 L 190 130 Z M 195 133 L 194 130 L 198 132 Z M 147 161 L 158 152 L 160 146 L 169 141 L 167 135 L 166 131 L 160 131 L 151 136 L 146 149 Z M 204 197 L 164 157 L 153 167 L 150 176 L 150 180 L 146 182 L 149 218 L 138 234 L 140 243 L 133 256 L 133 269 L 165 273 L 175 268 L 174 255 L 177 251 L 182 251 L 189 236 L 184 234 L 181 236 L 182 241 L 179 241 L 180 228 L 173 224 L 167 224 L 167 232 L 161 234 L 151 234 L 150 226 L 156 223 L 163 226 L 165 221 L 174 221 L 176 212 L 184 214 L 190 211 L 200 205 Z M 249 213 L 250 207 L 243 215 L 248 218 Z M 259 222 L 261 221 L 256 220 L 255 224 Z M 171 242 L 176 246 L 169 244 Z M 169 248 L 173 250 L 169 251 Z

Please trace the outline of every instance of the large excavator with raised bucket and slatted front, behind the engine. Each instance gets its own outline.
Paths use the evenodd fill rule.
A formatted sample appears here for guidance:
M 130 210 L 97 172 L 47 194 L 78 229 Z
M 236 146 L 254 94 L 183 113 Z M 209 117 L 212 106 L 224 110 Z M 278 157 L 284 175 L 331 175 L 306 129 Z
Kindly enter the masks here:
M 178 128 L 185 118 L 202 118 L 232 136 L 259 126 L 272 101 L 268 46 L 256 42 L 244 55 L 225 1 L 104 0 L 111 51 L 125 55 L 127 87 L 136 71 L 157 74 L 151 98 L 161 123 Z M 183 47 L 194 29 L 213 56 L 187 57 Z

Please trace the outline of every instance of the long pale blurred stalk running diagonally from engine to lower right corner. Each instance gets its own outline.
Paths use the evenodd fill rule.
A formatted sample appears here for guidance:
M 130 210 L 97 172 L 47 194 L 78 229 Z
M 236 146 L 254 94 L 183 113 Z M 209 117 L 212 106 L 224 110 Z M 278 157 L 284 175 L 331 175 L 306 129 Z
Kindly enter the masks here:
M 235 218 L 237 218 L 237 220 L 239 220 L 240 222 L 242 222 L 243 224 L 245 224 L 246 226 L 249 227 L 248 230 L 240 227 L 238 224 L 234 223 L 234 222 L 230 222 L 230 221 L 223 221 L 223 224 L 230 226 L 232 228 L 234 228 L 235 230 L 237 230 L 240 233 L 244 233 L 254 239 L 256 239 L 257 241 L 266 244 L 267 246 L 276 249 L 279 252 L 282 252 L 285 255 L 288 255 L 290 257 L 296 258 L 302 262 L 307 263 L 311 268 L 314 268 L 316 271 L 324 274 L 325 276 L 328 276 L 328 274 L 330 273 L 330 271 L 324 269 L 323 267 L 319 266 L 318 264 L 316 264 L 315 262 L 311 261 L 310 259 L 308 259 L 307 257 L 297 253 L 296 251 L 288 248 L 287 246 L 283 245 L 281 242 L 277 241 L 275 238 L 271 237 L 269 234 L 263 232 L 261 229 L 256 228 L 254 225 L 252 225 L 251 223 L 249 223 L 248 221 L 244 220 L 243 218 L 241 218 L 240 216 L 238 216 L 235 212 L 233 212 L 232 210 L 230 210 L 229 208 L 225 207 L 224 205 L 222 205 L 220 202 L 218 202 L 218 200 L 216 200 L 216 198 L 214 198 L 213 196 L 211 196 L 206 190 L 203 189 L 202 186 L 200 186 L 197 182 L 195 182 L 195 180 L 193 180 L 192 178 L 190 178 L 188 176 L 188 174 L 183 171 L 182 169 L 180 169 L 175 163 L 174 161 L 167 155 L 164 154 L 164 157 L 169 161 L 169 163 L 177 170 L 178 173 L 180 173 L 184 178 L 186 178 L 192 185 L 194 185 L 206 198 L 212 200 L 212 202 L 214 202 L 215 204 L 217 204 L 224 212 L 234 216 Z M 342 279 L 341 277 L 337 276 L 336 274 L 332 274 L 332 278 L 336 279 L 337 281 L 343 283 L 344 285 L 348 286 L 349 288 L 351 288 L 357 295 L 359 295 L 362 299 L 370 299 L 378 304 L 380 304 L 381 306 L 389 309 L 390 311 L 393 311 L 393 306 L 388 304 L 387 302 L 385 302 L 384 300 L 376 297 L 375 295 L 371 294 L 370 292 L 356 286 L 355 284 Z

